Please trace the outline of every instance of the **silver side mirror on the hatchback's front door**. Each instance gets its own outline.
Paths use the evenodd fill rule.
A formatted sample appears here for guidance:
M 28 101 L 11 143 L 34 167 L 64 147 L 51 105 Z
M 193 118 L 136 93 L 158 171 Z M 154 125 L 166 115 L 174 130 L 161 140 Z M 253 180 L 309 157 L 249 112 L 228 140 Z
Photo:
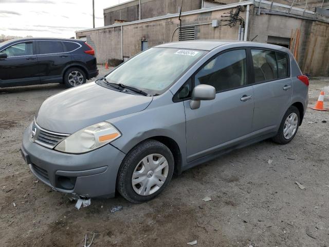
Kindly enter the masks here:
M 200 107 L 200 100 L 212 100 L 216 97 L 216 90 L 213 86 L 200 84 L 194 87 L 190 101 L 192 110 Z

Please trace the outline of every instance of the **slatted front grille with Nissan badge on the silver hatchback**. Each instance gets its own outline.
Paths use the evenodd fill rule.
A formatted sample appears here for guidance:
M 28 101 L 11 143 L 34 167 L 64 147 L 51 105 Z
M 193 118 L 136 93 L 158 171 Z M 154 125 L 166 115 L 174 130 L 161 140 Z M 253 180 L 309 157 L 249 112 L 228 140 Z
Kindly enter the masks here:
M 33 127 L 36 129 L 35 136 L 33 137 L 34 142 L 46 148 L 54 148 L 57 144 L 61 142 L 61 140 L 68 136 L 68 134 L 55 133 L 42 129 L 35 123 L 35 121 L 33 123 Z

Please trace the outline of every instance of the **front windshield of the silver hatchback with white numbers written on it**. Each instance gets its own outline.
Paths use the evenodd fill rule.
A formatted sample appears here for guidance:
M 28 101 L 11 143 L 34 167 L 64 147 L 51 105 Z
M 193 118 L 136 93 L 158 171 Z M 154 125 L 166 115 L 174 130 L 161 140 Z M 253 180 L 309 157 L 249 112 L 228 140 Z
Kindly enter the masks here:
M 125 62 L 106 81 L 124 84 L 143 90 L 150 95 L 159 95 L 205 55 L 203 50 L 150 48 Z

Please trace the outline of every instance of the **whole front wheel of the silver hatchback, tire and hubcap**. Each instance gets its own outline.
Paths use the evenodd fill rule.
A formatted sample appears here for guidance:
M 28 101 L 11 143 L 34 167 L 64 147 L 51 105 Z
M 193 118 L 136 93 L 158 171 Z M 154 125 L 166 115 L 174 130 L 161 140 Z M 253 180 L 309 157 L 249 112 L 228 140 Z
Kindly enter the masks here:
M 133 203 L 155 198 L 171 180 L 174 157 L 169 148 L 156 140 L 147 140 L 124 158 L 117 179 L 122 197 Z

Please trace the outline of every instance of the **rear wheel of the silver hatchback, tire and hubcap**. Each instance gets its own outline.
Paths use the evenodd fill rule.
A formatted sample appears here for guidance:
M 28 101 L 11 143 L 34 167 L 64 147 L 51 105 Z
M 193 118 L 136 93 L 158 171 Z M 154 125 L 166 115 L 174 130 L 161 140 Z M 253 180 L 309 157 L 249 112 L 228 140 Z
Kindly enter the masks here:
M 272 140 L 278 144 L 287 144 L 294 139 L 299 127 L 300 114 L 297 107 L 291 105 L 281 121 L 279 131 Z

